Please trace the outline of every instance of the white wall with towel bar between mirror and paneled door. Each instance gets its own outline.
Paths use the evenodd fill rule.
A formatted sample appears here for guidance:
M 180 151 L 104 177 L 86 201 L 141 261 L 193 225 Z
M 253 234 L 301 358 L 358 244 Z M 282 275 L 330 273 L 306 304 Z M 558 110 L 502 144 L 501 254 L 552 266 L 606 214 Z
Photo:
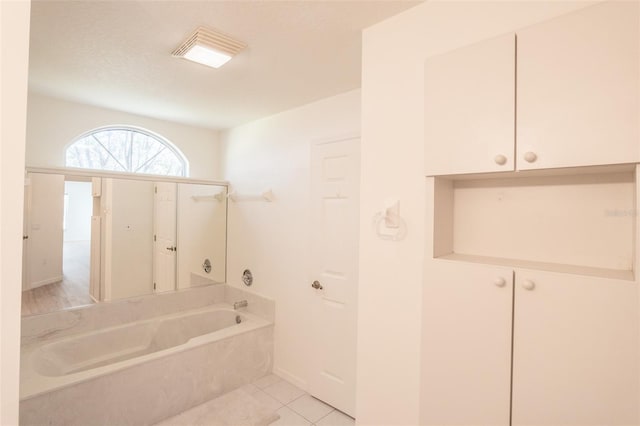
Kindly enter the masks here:
M 308 311 L 310 146 L 360 132 L 354 90 L 235 127 L 222 134 L 224 179 L 239 196 L 272 189 L 275 199 L 229 202 L 227 282 L 275 299 L 274 371 L 306 387 L 311 358 Z M 394 141 L 395 143 L 395 141 Z

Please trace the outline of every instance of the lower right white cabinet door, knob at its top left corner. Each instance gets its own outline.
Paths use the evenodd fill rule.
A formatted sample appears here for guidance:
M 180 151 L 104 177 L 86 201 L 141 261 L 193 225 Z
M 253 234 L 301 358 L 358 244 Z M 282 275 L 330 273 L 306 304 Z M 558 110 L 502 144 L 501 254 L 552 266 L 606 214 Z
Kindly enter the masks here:
M 637 284 L 516 271 L 513 425 L 638 424 Z

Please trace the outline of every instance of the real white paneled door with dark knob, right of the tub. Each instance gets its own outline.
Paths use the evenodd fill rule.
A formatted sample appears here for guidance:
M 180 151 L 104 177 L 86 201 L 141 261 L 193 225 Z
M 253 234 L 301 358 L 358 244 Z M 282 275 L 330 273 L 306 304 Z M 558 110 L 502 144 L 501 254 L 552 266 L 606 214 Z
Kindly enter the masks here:
M 355 414 L 359 138 L 312 146 L 309 393 Z

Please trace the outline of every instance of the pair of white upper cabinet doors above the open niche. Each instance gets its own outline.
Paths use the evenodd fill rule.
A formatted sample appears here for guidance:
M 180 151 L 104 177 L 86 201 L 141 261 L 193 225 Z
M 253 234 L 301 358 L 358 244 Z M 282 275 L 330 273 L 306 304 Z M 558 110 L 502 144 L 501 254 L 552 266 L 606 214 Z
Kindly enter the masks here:
M 429 58 L 426 175 L 640 161 L 639 7 L 605 2 Z

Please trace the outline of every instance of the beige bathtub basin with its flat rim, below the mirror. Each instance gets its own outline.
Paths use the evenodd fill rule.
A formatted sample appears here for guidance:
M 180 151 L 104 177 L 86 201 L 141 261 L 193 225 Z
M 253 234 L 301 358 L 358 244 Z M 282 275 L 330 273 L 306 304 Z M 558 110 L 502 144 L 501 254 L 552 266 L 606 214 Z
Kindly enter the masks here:
M 20 354 L 20 397 L 73 386 L 265 327 L 272 328 L 272 323 L 219 303 L 24 345 Z M 245 350 L 252 353 L 250 348 Z

